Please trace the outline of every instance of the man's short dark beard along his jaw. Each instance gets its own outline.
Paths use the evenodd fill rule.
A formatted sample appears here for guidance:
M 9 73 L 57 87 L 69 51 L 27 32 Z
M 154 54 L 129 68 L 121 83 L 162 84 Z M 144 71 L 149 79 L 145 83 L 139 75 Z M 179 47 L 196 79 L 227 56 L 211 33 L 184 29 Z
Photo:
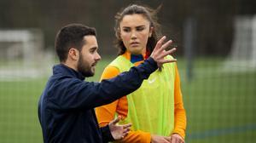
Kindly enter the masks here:
M 84 62 L 84 56 L 82 54 L 80 54 L 80 56 L 79 56 L 78 71 L 84 77 L 92 77 L 92 76 L 94 76 L 94 72 L 91 71 L 90 64 Z

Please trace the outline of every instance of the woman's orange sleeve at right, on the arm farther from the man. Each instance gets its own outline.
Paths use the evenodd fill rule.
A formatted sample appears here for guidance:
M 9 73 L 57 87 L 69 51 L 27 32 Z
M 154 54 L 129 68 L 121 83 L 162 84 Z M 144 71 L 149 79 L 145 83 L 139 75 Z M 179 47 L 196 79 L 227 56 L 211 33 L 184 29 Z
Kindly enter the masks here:
M 186 112 L 183 106 L 183 96 L 180 87 L 180 78 L 176 65 L 176 77 L 174 83 L 174 130 L 172 134 L 176 133 L 185 138 L 185 130 L 187 125 Z

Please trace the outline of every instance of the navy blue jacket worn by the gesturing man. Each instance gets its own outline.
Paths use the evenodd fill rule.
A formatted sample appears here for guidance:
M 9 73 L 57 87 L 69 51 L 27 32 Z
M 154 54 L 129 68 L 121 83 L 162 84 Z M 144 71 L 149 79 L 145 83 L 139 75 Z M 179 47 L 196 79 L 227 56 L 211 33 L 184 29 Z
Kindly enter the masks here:
M 102 143 L 113 140 L 108 126 L 99 128 L 94 108 L 135 91 L 156 69 L 156 62 L 148 58 L 129 72 L 93 83 L 84 81 L 81 73 L 67 66 L 54 66 L 53 75 L 38 103 L 44 142 Z

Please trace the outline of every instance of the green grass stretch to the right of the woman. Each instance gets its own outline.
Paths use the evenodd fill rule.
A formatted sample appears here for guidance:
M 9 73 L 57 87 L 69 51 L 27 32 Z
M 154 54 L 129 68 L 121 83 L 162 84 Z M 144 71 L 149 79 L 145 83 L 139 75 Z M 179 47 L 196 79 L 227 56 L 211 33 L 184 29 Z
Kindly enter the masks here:
M 221 64 L 196 60 L 192 80 L 183 80 L 188 142 L 256 140 L 256 72 L 221 72 Z

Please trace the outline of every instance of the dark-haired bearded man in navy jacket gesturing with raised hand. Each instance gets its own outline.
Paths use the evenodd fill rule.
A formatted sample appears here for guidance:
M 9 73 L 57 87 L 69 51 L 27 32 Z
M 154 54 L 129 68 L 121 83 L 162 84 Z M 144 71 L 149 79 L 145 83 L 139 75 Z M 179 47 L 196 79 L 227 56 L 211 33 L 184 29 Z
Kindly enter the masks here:
M 131 125 L 115 125 L 119 122 L 117 118 L 99 128 L 94 108 L 130 94 L 162 64 L 174 62 L 164 59 L 175 51 L 165 50 L 171 43 L 163 44 L 165 39 L 160 39 L 141 66 L 131 67 L 129 72 L 102 83 L 90 83 L 84 81 L 84 77 L 93 76 L 96 63 L 101 60 L 96 31 L 80 24 L 64 26 L 55 39 L 60 64 L 53 67 L 53 75 L 38 103 L 44 142 L 101 143 L 123 138 Z

